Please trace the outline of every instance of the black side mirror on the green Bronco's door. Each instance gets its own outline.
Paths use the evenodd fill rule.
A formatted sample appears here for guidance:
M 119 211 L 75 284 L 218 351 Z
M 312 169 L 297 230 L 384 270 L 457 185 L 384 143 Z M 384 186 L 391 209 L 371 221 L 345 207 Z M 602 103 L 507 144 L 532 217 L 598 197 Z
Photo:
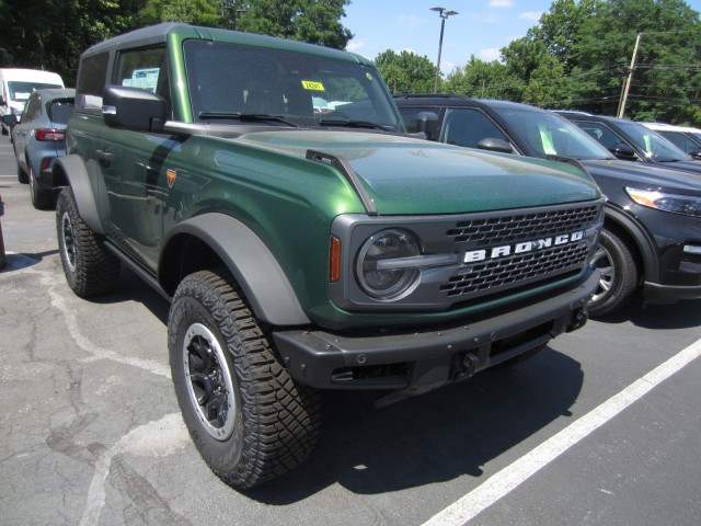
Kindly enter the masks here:
M 114 128 L 159 132 L 168 118 L 165 100 L 140 88 L 108 85 L 102 104 L 105 124 Z

